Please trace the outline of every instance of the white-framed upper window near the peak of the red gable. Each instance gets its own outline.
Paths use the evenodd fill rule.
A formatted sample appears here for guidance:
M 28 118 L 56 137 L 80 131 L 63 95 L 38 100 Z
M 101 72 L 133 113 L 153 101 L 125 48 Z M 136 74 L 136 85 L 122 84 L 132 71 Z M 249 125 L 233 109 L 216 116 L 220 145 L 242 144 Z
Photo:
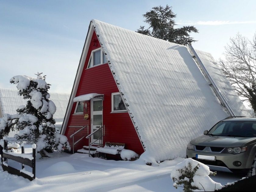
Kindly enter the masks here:
M 91 52 L 91 56 L 90 56 L 87 68 L 98 66 L 104 63 L 107 63 L 107 59 L 102 49 L 101 48 L 94 49 Z

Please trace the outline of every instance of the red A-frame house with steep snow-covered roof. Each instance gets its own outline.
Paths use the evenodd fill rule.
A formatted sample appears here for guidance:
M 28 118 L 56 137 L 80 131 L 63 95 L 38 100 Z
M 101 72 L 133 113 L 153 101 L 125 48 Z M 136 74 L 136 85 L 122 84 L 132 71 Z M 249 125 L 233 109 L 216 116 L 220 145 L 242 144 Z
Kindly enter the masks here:
M 250 114 L 209 53 L 92 20 L 61 133 L 158 161 L 232 115 Z

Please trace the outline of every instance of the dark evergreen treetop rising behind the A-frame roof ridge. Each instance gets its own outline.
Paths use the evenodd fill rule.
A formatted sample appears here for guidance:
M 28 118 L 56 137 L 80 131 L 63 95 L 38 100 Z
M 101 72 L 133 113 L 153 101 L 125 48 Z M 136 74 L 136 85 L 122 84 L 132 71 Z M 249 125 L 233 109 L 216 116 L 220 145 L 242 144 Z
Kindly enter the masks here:
M 181 28 L 174 28 L 174 18 L 176 14 L 172 12 L 172 7 L 166 5 L 166 7 L 157 6 L 152 10 L 146 12 L 143 15 L 145 23 L 149 24 L 149 28 L 140 26 L 136 32 L 163 39 L 177 44 L 187 45 L 188 42 L 194 42 L 195 40 L 190 37 L 190 33 L 198 33 L 198 30 L 194 26 L 183 26 Z

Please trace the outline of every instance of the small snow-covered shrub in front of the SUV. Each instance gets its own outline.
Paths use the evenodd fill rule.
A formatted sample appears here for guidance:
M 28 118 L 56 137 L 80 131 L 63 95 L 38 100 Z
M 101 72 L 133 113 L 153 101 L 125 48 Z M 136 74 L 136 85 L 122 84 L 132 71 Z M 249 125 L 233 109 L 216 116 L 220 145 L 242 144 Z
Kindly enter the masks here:
M 213 181 L 209 175 L 216 175 L 207 165 L 187 158 L 178 163 L 171 172 L 173 187 L 183 187 L 183 191 L 214 191 L 221 189 L 220 183 Z M 183 186 L 182 186 L 183 185 Z

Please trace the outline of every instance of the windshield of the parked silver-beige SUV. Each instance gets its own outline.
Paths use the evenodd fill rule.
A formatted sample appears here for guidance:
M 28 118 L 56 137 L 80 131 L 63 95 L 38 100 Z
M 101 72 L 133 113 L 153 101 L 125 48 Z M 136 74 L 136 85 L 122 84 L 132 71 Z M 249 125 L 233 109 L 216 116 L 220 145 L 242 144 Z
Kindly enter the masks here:
M 256 137 L 256 121 L 222 121 L 207 135 L 226 137 Z

